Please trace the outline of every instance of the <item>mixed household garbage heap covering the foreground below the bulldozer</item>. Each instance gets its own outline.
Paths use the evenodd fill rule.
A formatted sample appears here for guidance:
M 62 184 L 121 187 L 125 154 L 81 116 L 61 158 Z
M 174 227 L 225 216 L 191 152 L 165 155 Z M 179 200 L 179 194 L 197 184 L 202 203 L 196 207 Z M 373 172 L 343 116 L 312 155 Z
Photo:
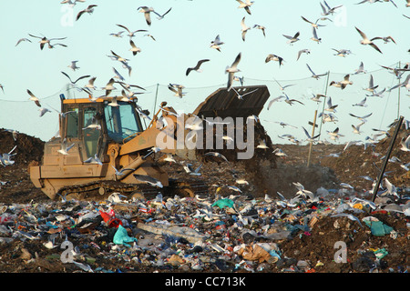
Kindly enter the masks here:
M 296 195 L 0 205 L 1 272 L 408 272 L 408 196 Z

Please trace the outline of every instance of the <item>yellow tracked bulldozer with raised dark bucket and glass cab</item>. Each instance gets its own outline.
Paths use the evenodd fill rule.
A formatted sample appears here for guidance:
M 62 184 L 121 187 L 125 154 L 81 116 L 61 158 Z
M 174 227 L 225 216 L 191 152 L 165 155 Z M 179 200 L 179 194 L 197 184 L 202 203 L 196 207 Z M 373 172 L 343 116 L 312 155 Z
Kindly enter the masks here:
M 238 90 L 242 94 L 253 92 L 246 95 L 246 99 L 239 99 L 235 95 Z M 77 199 L 90 195 L 107 196 L 114 191 L 145 197 L 163 191 L 183 196 L 206 194 L 208 186 L 202 180 L 191 176 L 184 181 L 170 179 L 155 160 L 159 153 L 178 155 L 177 146 L 161 148 L 157 153 L 157 138 L 165 132 L 176 143 L 178 128 L 183 128 L 183 135 L 190 131 L 181 124 L 181 120 L 188 118 L 178 118 L 180 115 L 165 102 L 152 118 L 142 118 L 147 113 L 138 106 L 137 98 L 127 101 L 121 101 L 121 98 L 92 100 L 60 95 L 60 136 L 46 142 L 41 165 L 30 167 L 33 184 L 51 199 L 57 196 Z M 241 86 L 230 92 L 220 88 L 193 114 L 202 118 L 259 115 L 268 98 L 265 85 Z M 167 117 L 168 124 L 163 124 L 163 117 Z M 154 186 L 138 177 L 149 177 L 159 183 Z

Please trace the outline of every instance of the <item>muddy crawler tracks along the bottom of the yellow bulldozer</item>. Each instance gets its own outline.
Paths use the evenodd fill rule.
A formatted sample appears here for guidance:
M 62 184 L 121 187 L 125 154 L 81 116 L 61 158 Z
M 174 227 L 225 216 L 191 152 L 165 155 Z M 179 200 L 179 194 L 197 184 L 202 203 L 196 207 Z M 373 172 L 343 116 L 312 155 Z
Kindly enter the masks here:
M 107 198 L 114 192 L 125 196 L 137 195 L 141 198 L 151 199 L 161 193 L 164 196 L 196 196 L 208 195 L 208 186 L 196 180 L 169 180 L 169 186 L 159 188 L 148 184 L 126 184 L 118 181 L 95 181 L 87 184 L 66 186 L 60 188 L 59 196 L 73 196 L 77 199 Z

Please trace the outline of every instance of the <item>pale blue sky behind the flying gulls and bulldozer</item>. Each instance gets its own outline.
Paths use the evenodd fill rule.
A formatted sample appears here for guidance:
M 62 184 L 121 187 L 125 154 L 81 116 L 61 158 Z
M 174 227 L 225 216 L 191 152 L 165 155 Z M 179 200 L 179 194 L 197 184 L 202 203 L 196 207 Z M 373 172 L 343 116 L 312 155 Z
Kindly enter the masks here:
M 3 30 L 0 55 L 3 70 L 0 74 L 0 84 L 4 93 L 0 91 L 2 114 L 0 127 L 16 129 L 27 135 L 35 135 L 48 140 L 58 130 L 58 118 L 55 111 L 40 117 L 38 107 L 28 101 L 26 90 L 31 90 L 43 105 L 51 109 L 59 109 L 58 95 L 65 93 L 67 77 L 73 80 L 81 75 L 97 76 L 95 85 L 105 86 L 113 74 L 112 68 L 125 77 L 128 84 L 140 85 L 147 89 L 147 93 L 138 96 L 139 104 L 153 111 L 154 99 L 158 90 L 157 105 L 167 101 L 169 105 L 186 113 L 193 111 L 200 102 L 220 87 L 226 86 L 228 76 L 225 68 L 231 65 L 234 58 L 241 52 L 241 62 L 238 67 L 244 76 L 245 85 L 268 85 L 271 97 L 261 112 L 262 125 L 268 131 L 273 143 L 283 143 L 277 135 L 292 134 L 298 139 L 304 139 L 302 126 L 309 128 L 308 121 L 313 120 L 314 110 L 322 112 L 323 103 L 317 105 L 310 97 L 312 94 L 324 94 L 332 97 L 333 105 L 338 105 L 334 114 L 337 123 L 323 124 L 321 139 L 329 139 L 326 131 L 340 128 L 344 136 L 337 143 L 345 143 L 351 139 L 364 140 L 372 135 L 372 128 L 387 129 L 397 115 L 404 115 L 410 119 L 409 92 L 405 88 L 395 89 L 391 93 L 385 92 L 383 97 L 368 96 L 367 107 L 357 107 L 353 104 L 364 99 L 369 92 L 367 87 L 370 75 L 374 76 L 374 85 L 379 85 L 376 91 L 390 88 L 398 84 L 395 75 L 390 74 L 381 65 L 401 65 L 410 62 L 410 37 L 408 27 L 410 7 L 405 7 L 405 0 L 390 2 L 364 3 L 355 5 L 357 1 L 328 0 L 331 6 L 343 5 L 333 15 L 328 15 L 332 21 L 323 20 L 319 24 L 317 34 L 322 42 L 317 44 L 310 38 L 313 36 L 312 25 L 302 20 L 304 16 L 310 21 L 322 17 L 321 1 L 272 1 L 255 0 L 251 5 L 251 15 L 248 15 L 239 3 L 234 0 L 147 0 L 147 1 L 90 1 L 77 3 L 73 8 L 60 4 L 59 0 L 45 1 L 1 1 L 0 23 Z M 322 1 L 323 3 L 323 1 Z M 87 7 L 97 5 L 92 15 L 84 14 L 76 21 L 77 13 Z M 159 14 L 172 8 L 163 19 L 151 15 L 152 24 L 147 25 L 138 7 L 147 5 L 153 7 Z M 22 8 L 23 7 L 23 8 Z M 245 24 L 251 29 L 247 32 L 245 41 L 241 39 L 241 19 L 245 16 Z M 109 34 L 123 30 L 117 25 L 126 25 L 130 30 L 146 29 L 133 38 L 140 47 L 138 55 L 129 51 L 129 37 L 124 33 L 122 38 Z M 264 25 L 266 37 L 261 30 L 253 25 Z M 395 43 L 384 44 L 383 40 L 374 43 L 382 50 L 378 53 L 369 45 L 361 45 L 362 39 L 354 26 L 361 29 L 369 38 L 391 35 Z M 287 44 L 283 35 L 294 35 L 300 32 L 300 40 L 293 45 Z M 46 35 L 48 38 L 67 37 L 62 43 L 67 47 L 47 46 L 40 50 L 38 39 L 29 36 Z M 156 41 L 146 34 L 153 35 Z M 225 44 L 220 46 L 221 52 L 210 48 L 210 41 L 216 35 Z M 20 38 L 26 37 L 32 42 L 15 44 Z M 348 49 L 352 55 L 345 57 L 334 55 L 334 49 Z M 310 49 L 311 54 L 302 54 L 296 60 L 299 50 Z M 110 51 L 129 59 L 132 73 L 117 61 L 108 58 Z M 277 62 L 265 63 L 269 54 L 280 55 L 284 59 L 280 67 Z M 202 72 L 191 72 L 185 75 L 188 67 L 196 65 L 200 59 L 208 58 Z M 80 67 L 72 71 L 67 65 L 71 61 L 78 61 Z M 353 75 L 354 70 L 364 62 L 367 74 Z M 314 73 L 323 74 L 328 71 L 329 82 L 342 81 L 343 76 L 351 74 L 353 85 L 344 90 L 328 86 L 326 76 L 319 80 L 311 78 L 306 64 Z M 405 80 L 403 75 L 402 81 Z M 300 100 L 304 105 L 287 105 L 284 102 L 275 103 L 267 110 L 272 98 L 282 95 L 278 85 L 295 84 L 285 90 L 291 98 Z M 176 83 L 184 85 L 186 95 L 182 99 L 175 97 L 167 85 Z M 87 79 L 78 81 L 77 85 L 87 84 Z M 236 85 L 239 85 L 237 83 Z M 121 88 L 119 85 L 116 85 Z M 74 92 L 74 91 L 72 91 Z M 138 91 L 140 92 L 140 91 Z M 102 93 L 102 91 L 101 91 Z M 120 91 L 118 91 L 118 95 Z M 75 92 L 75 95 L 85 96 Z M 96 94 L 98 95 L 98 94 Z M 400 96 L 400 99 L 399 99 Z M 398 111 L 398 100 L 400 109 Z M 359 124 L 354 115 L 367 115 L 368 122 L 361 128 L 361 135 L 354 135 L 351 125 Z M 282 128 L 275 122 L 285 122 L 298 128 Z M 320 121 L 320 120 L 318 120 Z M 334 143 L 334 142 L 333 142 Z

